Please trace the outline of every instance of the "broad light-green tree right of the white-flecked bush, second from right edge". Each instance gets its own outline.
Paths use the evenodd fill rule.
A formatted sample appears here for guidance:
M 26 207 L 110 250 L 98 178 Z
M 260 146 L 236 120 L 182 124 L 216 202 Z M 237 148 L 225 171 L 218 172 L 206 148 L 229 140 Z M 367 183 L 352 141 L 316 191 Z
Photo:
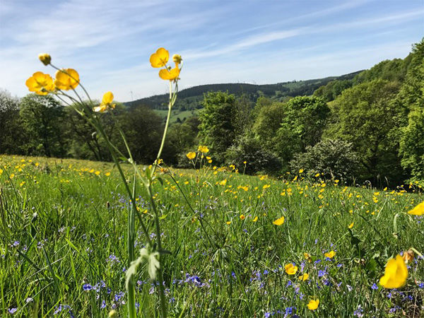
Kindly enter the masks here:
M 395 101 L 399 88 L 399 82 L 365 82 L 329 104 L 332 123 L 324 135 L 353 143 L 362 165 L 360 179 L 387 177 L 395 184 L 404 177 L 397 152 L 406 110 Z

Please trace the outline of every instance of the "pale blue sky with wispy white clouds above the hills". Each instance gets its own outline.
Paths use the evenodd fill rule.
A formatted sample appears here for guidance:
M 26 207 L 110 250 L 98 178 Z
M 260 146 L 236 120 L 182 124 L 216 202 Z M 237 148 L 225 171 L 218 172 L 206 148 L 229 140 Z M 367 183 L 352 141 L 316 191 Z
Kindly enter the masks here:
M 158 47 L 184 59 L 180 89 L 337 76 L 404 58 L 424 36 L 424 0 L 0 0 L 0 88 L 28 93 L 35 71 L 78 71 L 92 98 L 167 92 L 149 64 Z

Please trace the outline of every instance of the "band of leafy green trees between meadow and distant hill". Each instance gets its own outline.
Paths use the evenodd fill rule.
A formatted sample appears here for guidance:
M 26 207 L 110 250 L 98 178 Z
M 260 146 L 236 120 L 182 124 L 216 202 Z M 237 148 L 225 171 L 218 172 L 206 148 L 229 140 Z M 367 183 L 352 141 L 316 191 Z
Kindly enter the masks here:
M 295 85 L 295 83 L 293 83 Z M 315 83 L 314 83 L 315 85 Z M 214 165 L 282 175 L 305 170 L 326 177 L 384 182 L 424 180 L 424 41 L 405 59 L 382 61 L 355 76 L 326 81 L 312 95 L 275 98 L 204 94 L 199 117 L 170 126 L 163 159 L 188 167 L 199 143 Z M 125 131 L 134 158 L 151 163 L 163 118 L 150 107 L 117 104 L 100 116 L 122 149 Z M 0 91 L 0 153 L 111 160 L 93 129 L 52 96 L 13 98 Z

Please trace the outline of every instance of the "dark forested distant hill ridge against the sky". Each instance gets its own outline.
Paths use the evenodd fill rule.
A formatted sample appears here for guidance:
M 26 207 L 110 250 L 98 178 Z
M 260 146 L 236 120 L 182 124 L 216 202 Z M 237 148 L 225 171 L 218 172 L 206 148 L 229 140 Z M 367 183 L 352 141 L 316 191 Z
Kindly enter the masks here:
M 227 83 L 227 84 L 209 84 L 194 86 L 181 90 L 178 93 L 178 99 L 174 109 L 176 110 L 194 110 L 200 108 L 200 101 L 204 98 L 204 93 L 211 91 L 223 91 L 236 96 L 245 95 L 252 102 L 256 102 L 259 96 L 265 96 L 275 101 L 287 100 L 288 97 L 312 95 L 317 88 L 325 86 L 331 81 L 351 80 L 361 71 L 349 73 L 342 76 L 330 76 L 326 78 L 317 78 L 307 81 L 291 81 L 285 83 L 254 85 L 245 83 Z M 126 102 L 128 107 L 148 106 L 154 110 L 166 110 L 169 95 L 155 95 L 149 98 L 141 98 L 132 102 Z

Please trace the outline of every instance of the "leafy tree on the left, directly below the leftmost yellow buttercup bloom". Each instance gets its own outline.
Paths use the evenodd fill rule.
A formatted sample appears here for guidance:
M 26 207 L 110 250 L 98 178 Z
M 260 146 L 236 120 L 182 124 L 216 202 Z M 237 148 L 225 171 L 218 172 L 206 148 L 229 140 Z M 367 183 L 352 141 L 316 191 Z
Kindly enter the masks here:
M 50 95 L 29 94 L 20 101 L 26 154 L 64 157 L 63 114 L 63 107 Z

